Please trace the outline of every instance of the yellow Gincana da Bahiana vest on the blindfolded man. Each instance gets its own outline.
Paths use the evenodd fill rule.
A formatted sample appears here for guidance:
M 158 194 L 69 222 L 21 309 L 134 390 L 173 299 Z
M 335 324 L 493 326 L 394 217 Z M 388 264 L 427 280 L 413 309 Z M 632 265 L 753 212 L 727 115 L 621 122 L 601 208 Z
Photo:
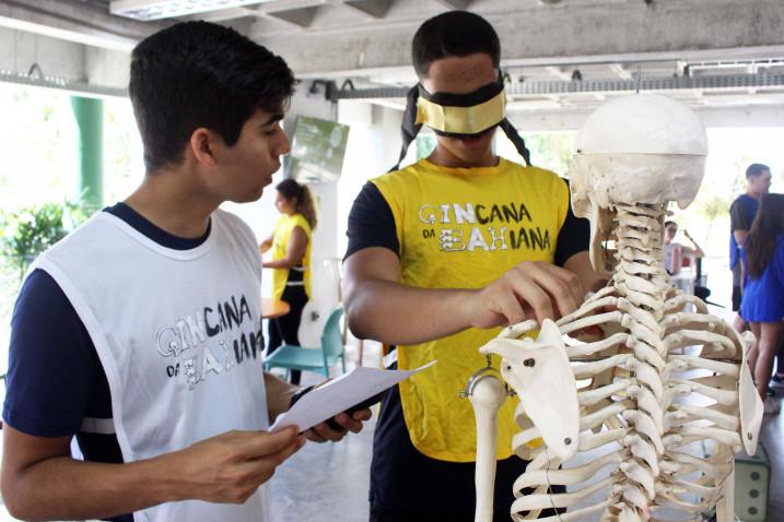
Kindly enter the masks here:
M 401 282 L 424 288 L 480 288 L 522 261 L 553 262 L 569 211 L 562 179 L 503 158 L 496 167 L 482 168 L 446 168 L 423 159 L 372 182 L 395 217 Z M 485 365 L 478 348 L 498 332 L 469 329 L 398 347 L 400 369 L 438 359 L 400 383 L 406 425 L 420 452 L 444 461 L 475 461 L 473 411 L 458 392 Z M 516 405 L 516 399 L 508 400 L 499 414 L 499 459 L 512 455 Z

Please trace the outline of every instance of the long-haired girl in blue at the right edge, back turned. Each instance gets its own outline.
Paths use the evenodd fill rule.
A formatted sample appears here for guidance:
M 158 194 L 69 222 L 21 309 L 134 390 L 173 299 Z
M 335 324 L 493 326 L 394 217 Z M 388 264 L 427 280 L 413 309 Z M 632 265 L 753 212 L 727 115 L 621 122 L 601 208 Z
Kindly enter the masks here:
M 746 281 L 740 316 L 757 337 L 749 366 L 765 413 L 779 413 L 779 401 L 768 396 L 768 383 L 773 357 L 784 342 L 784 194 L 762 197 L 742 256 Z

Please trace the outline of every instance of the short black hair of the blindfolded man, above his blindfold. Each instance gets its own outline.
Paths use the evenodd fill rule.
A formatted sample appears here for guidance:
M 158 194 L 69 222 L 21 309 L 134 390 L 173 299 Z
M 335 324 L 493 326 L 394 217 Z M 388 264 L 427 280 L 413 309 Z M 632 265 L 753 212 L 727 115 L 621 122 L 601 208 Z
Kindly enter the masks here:
M 468 11 L 448 11 L 426 20 L 417 29 L 411 44 L 411 59 L 419 78 L 428 78 L 430 64 L 442 58 L 484 52 L 501 66 L 501 43 L 490 23 Z

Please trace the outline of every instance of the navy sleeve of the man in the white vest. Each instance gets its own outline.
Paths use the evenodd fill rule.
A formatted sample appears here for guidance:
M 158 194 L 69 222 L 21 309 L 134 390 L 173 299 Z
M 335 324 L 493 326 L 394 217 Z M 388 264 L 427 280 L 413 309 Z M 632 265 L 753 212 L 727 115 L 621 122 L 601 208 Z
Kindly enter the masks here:
M 102 377 L 77 311 L 55 280 L 35 270 L 22 286 L 11 319 L 3 419 L 36 437 L 74 435 Z

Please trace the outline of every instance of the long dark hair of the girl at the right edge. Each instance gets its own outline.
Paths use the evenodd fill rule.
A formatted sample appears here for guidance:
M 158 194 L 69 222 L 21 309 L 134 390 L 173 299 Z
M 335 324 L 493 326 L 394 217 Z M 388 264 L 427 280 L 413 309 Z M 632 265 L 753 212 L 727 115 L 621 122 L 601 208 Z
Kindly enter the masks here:
M 747 269 L 752 280 L 762 277 L 775 253 L 776 238 L 783 232 L 784 194 L 763 195 L 751 230 L 744 241 Z

